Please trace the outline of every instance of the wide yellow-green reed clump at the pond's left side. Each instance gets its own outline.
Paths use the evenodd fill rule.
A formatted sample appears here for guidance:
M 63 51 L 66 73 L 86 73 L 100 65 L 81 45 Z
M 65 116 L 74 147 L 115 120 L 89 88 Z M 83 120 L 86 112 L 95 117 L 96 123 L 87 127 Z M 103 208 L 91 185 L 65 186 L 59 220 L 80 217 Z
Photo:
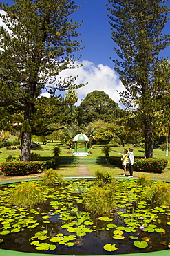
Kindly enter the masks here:
M 22 182 L 9 188 L 8 198 L 11 205 L 19 207 L 33 208 L 37 203 L 42 203 L 44 196 L 42 194 L 44 188 L 37 182 Z

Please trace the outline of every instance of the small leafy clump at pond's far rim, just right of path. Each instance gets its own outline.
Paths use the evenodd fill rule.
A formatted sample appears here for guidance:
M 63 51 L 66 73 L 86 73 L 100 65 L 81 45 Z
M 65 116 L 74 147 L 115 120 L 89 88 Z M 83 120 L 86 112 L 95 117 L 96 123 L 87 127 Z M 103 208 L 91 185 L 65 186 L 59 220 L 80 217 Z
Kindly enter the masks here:
M 95 183 L 97 183 L 98 185 L 103 185 L 103 184 L 107 184 L 107 183 L 112 183 L 114 181 L 114 177 L 113 174 L 111 174 L 111 172 L 107 171 L 107 172 L 102 172 L 100 170 L 96 170 L 94 172 L 95 176 L 96 176 L 96 181 Z

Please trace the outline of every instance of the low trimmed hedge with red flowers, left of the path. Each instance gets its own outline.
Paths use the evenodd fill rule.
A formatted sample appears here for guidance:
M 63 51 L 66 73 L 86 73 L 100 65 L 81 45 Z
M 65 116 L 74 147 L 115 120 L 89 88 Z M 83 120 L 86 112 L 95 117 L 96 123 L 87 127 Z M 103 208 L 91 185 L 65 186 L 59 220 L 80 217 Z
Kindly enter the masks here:
M 6 162 L 0 165 L 0 170 L 4 176 L 23 176 L 36 174 L 39 170 L 56 168 L 59 166 L 59 157 L 52 158 L 51 161 L 14 161 Z

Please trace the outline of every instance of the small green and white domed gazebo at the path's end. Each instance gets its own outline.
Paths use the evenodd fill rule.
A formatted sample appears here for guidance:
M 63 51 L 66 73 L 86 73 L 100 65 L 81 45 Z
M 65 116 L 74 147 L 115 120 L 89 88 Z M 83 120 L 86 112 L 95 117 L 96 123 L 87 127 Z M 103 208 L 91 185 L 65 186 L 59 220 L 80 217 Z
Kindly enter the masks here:
M 89 155 L 89 149 L 87 148 L 87 143 L 89 142 L 89 138 L 85 134 L 77 134 L 74 139 L 74 149 L 73 149 L 73 155 L 74 156 L 88 156 Z M 85 148 L 79 148 L 77 147 L 78 143 L 85 143 Z

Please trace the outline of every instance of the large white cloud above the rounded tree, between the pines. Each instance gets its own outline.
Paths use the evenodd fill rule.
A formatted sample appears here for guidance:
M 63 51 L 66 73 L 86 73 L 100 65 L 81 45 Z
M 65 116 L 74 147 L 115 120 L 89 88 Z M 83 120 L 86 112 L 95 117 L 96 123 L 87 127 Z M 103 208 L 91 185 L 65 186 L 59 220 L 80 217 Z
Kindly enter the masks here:
M 76 84 L 85 84 L 87 85 L 76 89 L 76 93 L 78 93 L 78 102 L 81 103 L 81 100 L 85 98 L 85 96 L 95 90 L 105 91 L 109 95 L 109 97 L 114 100 L 116 103 L 119 103 L 119 93 L 117 90 L 125 91 L 125 87 L 118 79 L 118 75 L 111 69 L 109 66 L 103 66 L 103 64 L 98 64 L 95 66 L 94 63 L 84 60 L 83 62 L 79 62 L 76 64 L 83 64 L 80 68 L 65 70 L 62 71 L 59 76 L 76 76 Z

